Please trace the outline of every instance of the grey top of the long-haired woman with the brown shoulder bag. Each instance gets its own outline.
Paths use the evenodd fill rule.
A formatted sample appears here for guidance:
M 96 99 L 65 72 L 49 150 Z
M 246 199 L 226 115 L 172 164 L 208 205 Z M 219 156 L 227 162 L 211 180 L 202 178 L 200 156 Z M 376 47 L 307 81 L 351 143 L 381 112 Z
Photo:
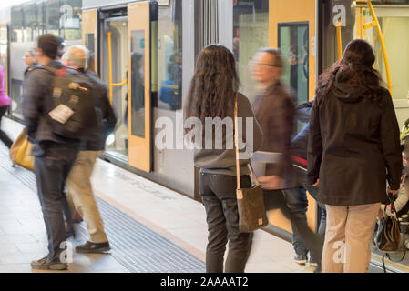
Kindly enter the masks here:
M 261 147 L 262 142 L 262 132 L 261 127 L 254 117 L 251 110 L 251 104 L 247 97 L 242 94 L 238 94 L 238 117 L 242 117 L 242 134 L 240 135 L 240 140 L 246 143 L 246 148 L 251 149 L 252 142 L 252 152 L 257 151 Z M 230 116 L 233 120 L 233 116 Z M 253 128 L 252 128 L 252 140 L 246 140 L 246 117 L 253 118 Z M 204 126 L 203 126 L 204 128 Z M 240 130 L 239 130 L 240 133 Z M 195 166 L 200 168 L 201 173 L 210 174 L 222 174 L 236 176 L 236 153 L 234 148 L 226 148 L 226 145 L 234 144 L 234 136 L 232 133 L 223 133 L 223 149 L 195 149 L 194 162 Z M 241 152 L 241 151 L 240 151 Z M 250 157 L 240 158 L 240 176 L 251 174 L 249 169 Z

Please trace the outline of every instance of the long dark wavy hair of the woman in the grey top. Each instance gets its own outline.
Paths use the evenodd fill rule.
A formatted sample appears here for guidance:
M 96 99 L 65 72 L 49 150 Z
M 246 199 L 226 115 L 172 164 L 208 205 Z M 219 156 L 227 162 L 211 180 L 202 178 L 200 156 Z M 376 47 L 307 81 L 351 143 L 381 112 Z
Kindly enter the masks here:
M 199 54 L 190 81 L 185 117 L 231 116 L 240 79 L 233 54 L 223 45 L 208 45 Z

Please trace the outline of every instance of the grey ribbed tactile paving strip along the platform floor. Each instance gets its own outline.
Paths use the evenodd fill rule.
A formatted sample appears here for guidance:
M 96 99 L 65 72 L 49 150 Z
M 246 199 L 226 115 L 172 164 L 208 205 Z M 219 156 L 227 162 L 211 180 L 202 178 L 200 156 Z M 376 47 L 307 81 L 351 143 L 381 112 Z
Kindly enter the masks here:
M 36 176 L 24 168 L 11 165 L 7 149 L 1 145 L 0 166 L 13 173 L 36 194 Z M 96 199 L 112 248 L 111 256 L 130 272 L 197 273 L 205 271 L 204 262 L 196 256 L 189 254 L 166 237 L 140 224 L 106 201 L 98 197 Z M 77 230 L 86 240 L 87 228 L 84 223 L 81 223 Z

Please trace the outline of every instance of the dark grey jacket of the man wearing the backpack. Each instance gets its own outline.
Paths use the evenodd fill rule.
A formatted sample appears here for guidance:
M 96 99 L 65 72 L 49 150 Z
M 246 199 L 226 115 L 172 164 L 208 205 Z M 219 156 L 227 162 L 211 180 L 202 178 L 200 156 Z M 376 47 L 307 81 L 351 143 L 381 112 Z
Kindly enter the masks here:
M 47 66 L 60 69 L 61 62 L 52 60 Z M 46 98 L 52 96 L 53 75 L 41 68 L 31 71 L 26 80 L 26 95 L 23 98 L 23 116 L 26 125 L 26 133 L 35 143 L 33 155 L 41 156 L 44 153 L 44 145 L 50 143 L 79 146 L 78 139 L 66 138 L 55 135 L 50 119 L 46 115 L 44 106 Z

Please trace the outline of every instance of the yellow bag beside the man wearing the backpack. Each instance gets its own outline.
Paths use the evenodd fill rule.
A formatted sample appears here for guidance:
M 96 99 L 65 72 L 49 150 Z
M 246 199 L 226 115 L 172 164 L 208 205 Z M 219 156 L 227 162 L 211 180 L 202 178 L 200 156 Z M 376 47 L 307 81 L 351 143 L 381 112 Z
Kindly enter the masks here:
M 10 158 L 14 165 L 25 167 L 34 171 L 34 156 L 30 156 L 34 145 L 27 139 L 26 131 L 23 129 L 10 148 Z

